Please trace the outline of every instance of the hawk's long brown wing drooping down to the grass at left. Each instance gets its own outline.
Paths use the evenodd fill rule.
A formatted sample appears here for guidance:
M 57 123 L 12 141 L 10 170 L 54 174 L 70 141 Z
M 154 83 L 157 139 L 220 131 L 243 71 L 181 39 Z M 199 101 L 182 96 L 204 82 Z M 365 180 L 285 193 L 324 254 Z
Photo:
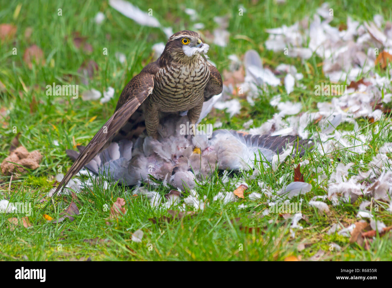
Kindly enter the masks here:
M 153 88 L 154 74 L 142 71 L 140 74 L 132 78 L 121 93 L 120 99 L 123 100 L 123 103 L 118 109 L 116 109 L 113 116 L 105 123 L 105 125 L 102 126 L 97 134 L 95 134 L 83 152 L 80 153 L 78 159 L 76 159 L 71 168 L 69 168 L 67 174 L 65 174 L 64 179 L 58 185 L 56 192 L 53 195 L 56 195 L 56 193 L 64 185 L 66 185 L 84 165 L 89 163 L 96 154 L 105 149 L 111 143 L 112 139 L 121 127 L 123 127 L 149 94 L 151 94 Z

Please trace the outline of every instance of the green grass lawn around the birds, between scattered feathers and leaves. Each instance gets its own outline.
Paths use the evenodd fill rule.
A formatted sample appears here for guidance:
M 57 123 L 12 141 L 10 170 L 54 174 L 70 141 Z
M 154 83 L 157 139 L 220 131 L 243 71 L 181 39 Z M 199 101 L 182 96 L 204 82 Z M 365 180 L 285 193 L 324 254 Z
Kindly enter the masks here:
M 164 27 L 173 27 L 173 31 L 191 29 L 192 24 L 202 22 L 204 31 L 212 31 L 217 27 L 214 16 L 229 14 L 230 42 L 227 47 L 211 45 L 208 53 L 218 69 L 227 69 L 230 60 L 227 56 L 236 54 L 242 56 L 248 49 L 260 53 L 263 62 L 271 67 L 279 63 L 296 66 L 298 72 L 304 74 L 303 83 L 307 90 L 296 88 L 289 96 L 284 87 L 267 89 L 263 96 L 256 99 L 256 105 L 250 106 L 246 100 L 241 100 L 241 114 L 229 118 L 224 112 L 213 112 L 207 123 L 222 121 L 223 128 L 242 129 L 242 124 L 250 118 L 254 119 L 254 127 L 270 119 L 275 110 L 269 105 L 269 99 L 275 94 L 282 94 L 282 100 L 301 102 L 303 111 L 314 111 L 320 101 L 328 101 L 328 96 L 314 96 L 314 85 L 328 82 L 321 70 L 321 59 L 313 56 L 307 61 L 287 58 L 283 53 L 273 53 L 264 48 L 263 42 L 268 34 L 265 28 L 291 25 L 306 15 L 312 15 L 322 1 L 287 1 L 276 5 L 274 1 L 249 1 L 243 3 L 246 11 L 238 15 L 238 2 L 225 1 L 192 1 L 186 0 L 181 4 L 174 1 L 144 1 L 135 2 L 143 11 L 149 8 Z M 370 20 L 374 14 L 383 14 L 386 20 L 391 20 L 390 4 L 387 1 L 329 1 L 334 8 L 332 25 L 345 23 L 347 15 L 358 20 Z M 18 4 L 22 4 L 20 13 L 14 18 Z M 369 123 L 367 120 L 358 121 L 361 132 L 372 134 L 370 147 L 365 154 L 352 155 L 341 150 L 328 157 L 308 151 L 302 159 L 288 158 L 276 171 L 271 167 L 258 165 L 260 175 L 250 179 L 249 174 L 240 175 L 247 180 L 250 192 L 260 192 L 258 181 L 263 181 L 276 192 L 285 183 L 293 181 L 293 169 L 305 159 L 310 164 L 302 167 L 305 181 L 312 184 L 312 191 L 301 197 L 295 197 L 297 202 L 303 198 L 302 213 L 309 223 L 300 221 L 303 230 L 296 230 L 296 237 L 290 237 L 291 220 L 285 220 L 278 214 L 261 217 L 261 212 L 268 208 L 268 198 L 263 196 L 259 201 L 245 199 L 236 203 L 224 205 L 221 201 L 212 201 L 221 190 L 232 191 L 234 185 L 223 184 L 217 175 L 197 187 L 198 194 L 206 196 L 205 210 L 196 212 L 195 216 L 172 221 L 171 223 L 153 224 L 149 218 L 168 216 L 163 208 L 152 208 L 145 197 L 132 196 L 133 191 L 124 187 L 112 186 L 104 191 L 102 187 L 94 187 L 93 193 L 78 194 L 77 203 L 80 215 L 73 222 L 68 220 L 59 224 L 47 223 L 43 214 L 56 217 L 71 201 L 71 196 L 58 197 L 54 203 L 40 203 L 40 199 L 54 185 L 54 176 L 62 170 L 65 172 L 72 164 L 65 155 L 65 149 L 75 148 L 75 144 L 86 145 L 96 131 L 113 113 L 116 101 L 125 84 L 138 73 L 144 65 L 152 60 L 151 46 L 157 42 L 165 42 L 165 35 L 159 29 L 142 27 L 110 8 L 107 1 L 41 1 L 38 5 L 33 1 L 0 0 L 0 24 L 11 23 L 17 26 L 14 41 L 0 43 L 0 81 L 5 90 L 0 91 L 0 107 L 9 110 L 4 119 L 0 119 L 0 160 L 8 156 L 9 146 L 15 137 L 13 127 L 20 132 L 20 144 L 29 151 L 38 149 L 44 158 L 40 168 L 19 178 L 13 178 L 11 189 L 8 189 L 9 176 L 0 176 L 0 199 L 10 202 L 30 202 L 33 214 L 29 217 L 33 226 L 29 228 L 16 227 L 11 231 L 7 228 L 10 217 L 22 217 L 18 214 L 0 214 L 0 259 L 1 260 L 283 260 L 289 255 L 308 259 L 319 249 L 324 250 L 325 260 L 391 260 L 391 232 L 377 237 L 371 243 L 369 250 L 364 250 L 356 244 L 349 244 L 348 238 L 338 234 L 327 235 L 326 231 L 332 223 L 352 224 L 356 221 L 356 213 L 361 199 L 356 203 L 330 206 L 328 216 L 318 214 L 307 203 L 315 195 L 327 193 L 327 183 L 318 182 L 313 170 L 323 168 L 329 177 L 337 163 L 354 162 L 351 174 L 357 174 L 363 167 L 359 161 L 368 163 L 385 142 L 392 141 L 392 132 L 385 128 L 390 125 L 388 118 Z M 194 8 L 200 18 L 191 21 L 183 12 L 183 8 Z M 62 16 L 58 16 L 58 9 Z M 101 25 L 95 24 L 94 16 L 98 11 L 105 13 L 106 19 Z M 24 36 L 27 27 L 33 33 L 27 39 Z M 93 47 L 92 53 L 77 49 L 71 34 L 79 32 L 86 36 L 86 42 Z M 45 65 L 34 65 L 29 69 L 23 61 L 23 54 L 32 44 L 40 46 L 44 52 Z M 17 48 L 17 55 L 12 49 Z M 103 48 L 108 55 L 103 55 Z M 121 64 L 115 57 L 116 52 L 126 55 L 126 62 Z M 81 84 L 78 69 L 83 62 L 94 60 L 98 71 L 89 80 L 89 85 Z M 381 72 L 385 73 L 385 72 Z M 111 86 L 115 89 L 115 97 L 105 104 L 99 101 L 82 101 L 81 97 L 72 99 L 67 96 L 47 96 L 45 86 L 56 84 L 79 84 L 79 93 L 85 89 L 104 91 Z M 34 104 L 35 102 L 35 104 Z M 31 104 L 33 103 L 33 104 Z M 94 119 L 94 117 L 96 117 Z M 384 127 L 375 132 L 376 126 Z M 317 125 L 309 129 L 316 131 Z M 343 123 L 339 130 L 350 130 L 352 126 Z M 315 134 L 317 134 L 315 132 Z M 53 141 L 58 140 L 59 146 Z M 279 179 L 283 176 L 283 182 Z M 159 187 L 161 194 L 167 188 Z M 111 206 L 117 197 L 126 200 L 126 215 L 113 225 L 106 225 L 109 211 L 104 211 L 104 204 Z M 361 198 L 361 197 L 360 197 Z M 247 208 L 238 208 L 240 204 Z M 380 203 L 380 207 L 385 204 Z M 176 208 L 174 208 L 176 209 Z M 187 208 L 191 209 L 191 208 Z M 377 219 L 391 225 L 390 213 L 381 208 L 375 212 Z M 234 219 L 240 218 L 239 221 Z M 260 228 L 260 230 L 244 228 Z M 134 231 L 142 229 L 142 243 L 131 241 Z M 85 239 L 105 239 L 96 245 L 86 243 Z M 329 251 L 330 243 L 337 243 L 342 251 Z M 306 248 L 298 251 L 297 246 L 305 243 Z

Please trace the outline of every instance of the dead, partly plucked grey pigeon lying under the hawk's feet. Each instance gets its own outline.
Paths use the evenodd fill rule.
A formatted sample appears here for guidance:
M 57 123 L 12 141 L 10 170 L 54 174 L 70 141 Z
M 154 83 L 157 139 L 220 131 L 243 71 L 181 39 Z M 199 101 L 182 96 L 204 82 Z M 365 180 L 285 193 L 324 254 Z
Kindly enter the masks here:
M 271 162 L 289 145 L 298 145 L 295 151 L 300 155 L 310 145 L 309 140 L 297 136 L 250 135 L 225 129 L 215 130 L 211 138 L 205 133 L 191 137 L 181 133 L 180 127 L 187 122 L 187 116 L 168 118 L 161 123 L 158 139 L 140 136 L 113 142 L 85 168 L 122 185 L 140 185 L 153 177 L 183 190 L 194 188 L 196 179 L 211 176 L 215 169 L 250 170 L 255 161 Z M 78 149 L 83 151 L 83 147 Z M 67 155 L 76 159 L 79 153 L 67 150 Z

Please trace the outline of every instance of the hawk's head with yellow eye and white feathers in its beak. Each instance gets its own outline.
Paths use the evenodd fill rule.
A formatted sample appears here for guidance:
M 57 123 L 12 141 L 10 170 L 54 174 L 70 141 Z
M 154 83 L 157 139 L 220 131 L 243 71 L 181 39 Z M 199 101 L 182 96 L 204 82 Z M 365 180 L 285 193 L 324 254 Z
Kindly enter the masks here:
M 199 33 L 183 30 L 170 36 L 162 55 L 168 53 L 174 59 L 191 60 L 194 55 L 207 53 L 209 47 L 201 41 Z

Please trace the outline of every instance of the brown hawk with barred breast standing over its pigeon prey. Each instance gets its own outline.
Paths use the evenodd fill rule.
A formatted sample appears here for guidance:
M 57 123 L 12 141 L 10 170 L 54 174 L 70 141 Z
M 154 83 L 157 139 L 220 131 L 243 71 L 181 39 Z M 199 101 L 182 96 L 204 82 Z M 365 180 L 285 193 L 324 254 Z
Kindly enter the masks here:
M 201 56 L 208 49 L 199 33 L 173 34 L 158 60 L 125 86 L 113 116 L 78 155 L 54 194 L 113 140 L 132 139 L 144 129 L 156 139 L 161 118 L 186 110 L 189 122 L 195 124 L 203 102 L 220 94 L 223 87 L 219 71 Z

